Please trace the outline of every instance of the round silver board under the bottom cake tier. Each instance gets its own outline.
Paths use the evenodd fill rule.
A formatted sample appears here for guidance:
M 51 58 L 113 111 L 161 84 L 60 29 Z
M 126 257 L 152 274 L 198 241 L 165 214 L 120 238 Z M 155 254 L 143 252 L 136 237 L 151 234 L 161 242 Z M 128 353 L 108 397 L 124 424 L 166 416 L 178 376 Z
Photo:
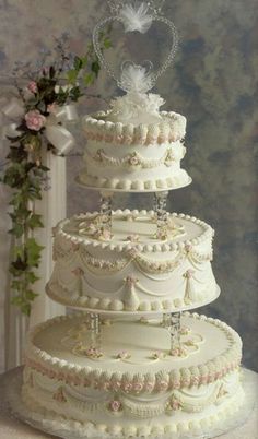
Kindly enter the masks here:
M 81 425 L 78 422 L 68 420 L 61 416 L 57 417 L 57 415 L 49 415 L 48 418 L 45 417 L 43 419 L 42 415 L 36 411 L 28 411 L 24 406 L 21 398 L 23 382 L 22 372 L 23 369 L 17 368 L 11 379 L 7 380 L 5 395 L 3 395 L 9 403 L 12 415 L 14 415 L 16 418 L 36 429 L 62 439 L 114 439 L 115 437 L 118 438 L 118 436 L 119 439 L 121 439 L 120 434 L 118 436 L 107 432 L 99 434 L 92 423 L 89 423 L 89 426 L 85 424 Z M 246 423 L 255 407 L 255 404 L 257 403 L 257 377 L 255 372 L 248 369 L 243 369 L 243 389 L 245 392 L 244 406 L 232 417 L 228 417 L 226 420 L 222 422 L 220 426 L 215 426 L 214 429 L 209 428 L 209 430 L 206 430 L 203 428 L 198 432 L 191 431 L 168 434 L 163 436 L 151 435 L 148 437 L 148 439 L 211 439 L 219 438 L 224 434 L 241 427 Z M 122 436 L 122 438 L 126 439 L 126 436 Z

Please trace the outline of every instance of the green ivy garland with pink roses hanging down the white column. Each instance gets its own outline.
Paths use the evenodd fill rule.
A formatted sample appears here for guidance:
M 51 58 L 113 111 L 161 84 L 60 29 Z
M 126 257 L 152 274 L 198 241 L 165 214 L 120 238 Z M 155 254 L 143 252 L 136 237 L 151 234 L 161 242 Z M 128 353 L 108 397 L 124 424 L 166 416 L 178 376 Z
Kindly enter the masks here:
M 110 28 L 101 35 L 102 50 L 110 47 L 109 32 Z M 92 44 L 82 58 L 67 54 L 67 36 L 57 40 L 55 50 L 58 55 L 55 62 L 48 67 L 42 62 L 35 73 L 30 71 L 26 74 L 30 82 L 25 88 L 21 88 L 15 81 L 24 106 L 24 116 L 16 128 L 19 134 L 8 138 L 10 152 L 2 178 L 2 182 L 12 189 L 9 213 L 12 220 L 9 233 L 14 240 L 10 265 L 11 302 L 27 316 L 38 295 L 34 290 L 34 284 L 38 281 L 35 269 L 40 263 L 44 248 L 34 237 L 34 232 L 44 227 L 42 216 L 34 210 L 34 203 L 42 199 L 49 170 L 43 165 L 42 156 L 46 149 L 56 153 L 54 145 L 46 139 L 45 121 L 52 107 L 78 102 L 86 95 L 86 88 L 97 79 L 101 69 Z M 50 52 L 45 52 L 45 63 L 49 55 Z M 21 74 L 21 70 L 19 64 L 16 75 Z

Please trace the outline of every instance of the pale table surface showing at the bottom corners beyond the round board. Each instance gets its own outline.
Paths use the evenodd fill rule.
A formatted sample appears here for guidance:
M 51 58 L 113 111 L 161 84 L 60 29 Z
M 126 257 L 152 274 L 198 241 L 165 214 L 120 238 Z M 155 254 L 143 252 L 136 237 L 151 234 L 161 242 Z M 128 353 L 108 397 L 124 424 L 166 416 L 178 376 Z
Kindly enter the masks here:
M 16 369 L 12 369 L 0 376 L 0 439 L 56 439 L 56 436 L 38 431 L 11 416 L 7 403 L 5 382 L 12 379 L 15 371 Z M 220 439 L 258 439 L 257 406 L 254 408 L 246 424 L 221 436 Z

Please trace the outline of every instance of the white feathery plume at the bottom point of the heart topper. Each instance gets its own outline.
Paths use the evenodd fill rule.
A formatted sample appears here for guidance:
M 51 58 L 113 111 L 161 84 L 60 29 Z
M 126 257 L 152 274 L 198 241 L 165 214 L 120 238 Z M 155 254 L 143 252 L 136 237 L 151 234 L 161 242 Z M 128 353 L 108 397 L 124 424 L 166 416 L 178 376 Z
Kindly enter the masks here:
M 143 66 L 126 62 L 122 66 L 120 84 L 127 92 L 145 93 L 153 87 L 153 74 Z

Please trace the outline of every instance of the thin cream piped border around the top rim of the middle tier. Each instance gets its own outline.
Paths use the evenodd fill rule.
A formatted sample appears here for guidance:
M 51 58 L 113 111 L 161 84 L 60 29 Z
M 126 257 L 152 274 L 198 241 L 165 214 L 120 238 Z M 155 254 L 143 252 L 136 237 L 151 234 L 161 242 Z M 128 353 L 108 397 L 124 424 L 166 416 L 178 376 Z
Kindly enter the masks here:
M 93 212 L 93 213 L 86 213 L 86 214 L 81 214 L 81 215 L 74 215 L 73 218 L 78 220 L 78 221 L 85 221 L 85 220 L 90 220 L 91 217 L 94 218 L 94 216 L 98 215 L 99 212 Z M 153 216 L 154 215 L 154 211 L 138 211 L 138 210 L 133 210 L 130 211 L 128 209 L 126 209 L 125 211 L 122 210 L 117 210 L 115 212 L 113 212 L 113 215 L 128 215 L 128 214 L 133 214 L 133 215 L 150 215 Z M 181 214 L 176 214 L 173 213 L 171 214 L 172 217 L 175 218 L 183 218 L 186 221 L 189 221 L 194 224 L 199 225 L 200 227 L 203 228 L 203 233 L 197 237 L 197 238 L 192 238 L 192 239 L 188 239 L 185 241 L 180 241 L 180 242 L 159 242 L 159 244 L 145 244 L 145 245 L 141 245 L 141 244 L 128 244 L 128 242 L 119 242 L 119 244 L 114 244 L 112 240 L 110 241 L 98 241 L 96 239 L 89 239 L 89 238 L 81 238 L 79 236 L 72 236 L 68 233 L 66 233 L 63 230 L 63 227 L 70 223 L 71 220 L 66 218 L 62 220 L 60 223 L 58 223 L 57 227 L 56 227 L 56 232 L 55 232 L 55 236 L 57 237 L 60 236 L 63 239 L 66 239 L 67 241 L 73 244 L 73 245 L 84 245 L 90 246 L 92 245 L 93 247 L 101 247 L 102 249 L 108 249 L 108 250 L 115 250 L 118 252 L 122 252 L 122 251 L 130 251 L 130 250 L 137 250 L 140 252 L 157 252 L 157 251 L 176 251 L 179 249 L 185 249 L 186 246 L 198 246 L 199 244 L 201 244 L 202 241 L 204 241 L 206 239 L 209 238 L 213 238 L 214 236 L 214 230 L 212 229 L 211 226 L 209 226 L 207 223 L 204 223 L 201 220 L 196 218 L 195 216 L 190 216 L 190 215 L 185 215 L 184 213 Z

